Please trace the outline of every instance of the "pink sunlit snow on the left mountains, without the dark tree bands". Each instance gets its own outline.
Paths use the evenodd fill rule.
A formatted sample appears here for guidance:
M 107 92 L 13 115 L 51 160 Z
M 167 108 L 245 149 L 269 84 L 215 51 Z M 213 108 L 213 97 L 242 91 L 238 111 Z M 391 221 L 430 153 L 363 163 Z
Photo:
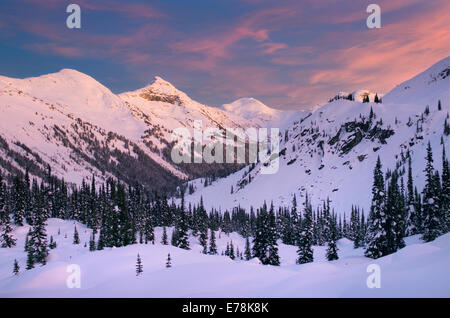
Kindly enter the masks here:
M 179 102 L 149 101 L 141 96 L 149 91 L 160 97 L 176 96 Z M 5 120 L 9 118 L 14 120 Z M 81 153 L 92 158 L 90 145 L 80 141 L 78 119 L 92 127 L 93 137 L 100 143 L 109 143 L 109 132 L 123 136 L 181 179 L 188 176 L 161 155 L 162 149 L 172 141 L 174 129 L 193 129 L 198 120 L 202 121 L 203 129 L 245 129 L 261 125 L 257 118 L 246 120 L 198 103 L 160 77 L 147 87 L 116 95 L 94 78 L 71 69 L 25 79 L 0 76 L 0 119 L 0 136 L 15 151 L 23 153 L 20 147 L 14 146 L 15 142 L 25 144 L 51 165 L 56 176 L 77 184 L 93 174 L 98 181 L 109 177 L 82 157 L 74 156 L 70 146 L 55 137 L 54 129 L 59 128 Z M 148 135 L 148 131 L 152 133 Z M 109 147 L 128 152 L 121 145 Z M 6 153 L 0 153 L 7 157 Z M 130 155 L 137 156 L 133 151 Z

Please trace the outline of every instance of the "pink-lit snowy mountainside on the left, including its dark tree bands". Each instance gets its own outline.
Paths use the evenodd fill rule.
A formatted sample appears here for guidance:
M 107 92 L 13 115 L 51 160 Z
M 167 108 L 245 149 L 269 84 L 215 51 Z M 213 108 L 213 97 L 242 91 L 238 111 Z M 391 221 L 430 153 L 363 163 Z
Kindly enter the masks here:
M 55 175 L 73 183 L 115 176 L 169 188 L 191 177 L 167 156 L 173 129 L 192 128 L 196 120 L 203 129 L 259 127 L 258 118 L 200 104 L 160 77 L 116 95 L 69 69 L 26 79 L 0 76 L 0 119 L 3 173 L 24 171 L 26 161 L 35 177 L 50 164 Z

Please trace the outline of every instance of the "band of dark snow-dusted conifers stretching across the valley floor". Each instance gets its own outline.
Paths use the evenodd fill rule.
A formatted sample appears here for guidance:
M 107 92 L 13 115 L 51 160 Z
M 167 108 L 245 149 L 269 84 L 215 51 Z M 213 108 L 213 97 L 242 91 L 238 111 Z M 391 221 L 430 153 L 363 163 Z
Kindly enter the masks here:
M 88 184 L 68 186 L 51 174 L 40 183 L 30 180 L 28 172 L 6 184 L 0 176 L 0 242 L 8 248 L 16 244 L 13 227 L 29 224 L 25 250 L 27 268 L 45 264 L 49 249 L 56 247 L 46 234 L 49 217 L 76 220 L 91 228 L 89 249 L 102 250 L 130 244 L 154 244 L 154 227 L 163 227 L 162 244 L 189 249 L 189 235 L 198 238 L 204 254 L 218 254 L 215 231 L 237 232 L 246 238 L 245 251 L 235 253 L 232 242 L 224 255 L 231 258 L 256 257 L 262 264 L 279 265 L 278 244 L 297 246 L 297 263 L 313 261 L 313 246 L 327 246 L 327 258 L 336 260 L 337 241 L 348 238 L 365 255 L 379 258 L 405 246 L 408 235 L 421 234 L 424 241 L 434 240 L 450 229 L 449 164 L 442 148 L 442 175 L 433 166 L 433 152 L 427 147 L 425 187 L 414 186 L 411 156 L 408 153 L 406 184 L 399 168 L 383 175 L 380 158 L 374 169 L 372 202 L 368 218 L 354 206 L 349 218 L 336 213 L 330 200 L 313 207 L 308 195 L 299 207 L 294 195 L 290 207 L 274 207 L 266 202 L 256 210 L 236 207 L 221 213 L 206 211 L 203 199 L 198 204 L 176 204 L 164 194 L 145 191 L 140 185 L 125 186 L 114 179 L 98 186 L 94 177 Z M 166 227 L 174 227 L 167 237 Z M 74 231 L 74 244 L 77 231 Z M 79 240 L 78 240 L 79 243 Z M 236 255 L 237 254 L 237 255 Z

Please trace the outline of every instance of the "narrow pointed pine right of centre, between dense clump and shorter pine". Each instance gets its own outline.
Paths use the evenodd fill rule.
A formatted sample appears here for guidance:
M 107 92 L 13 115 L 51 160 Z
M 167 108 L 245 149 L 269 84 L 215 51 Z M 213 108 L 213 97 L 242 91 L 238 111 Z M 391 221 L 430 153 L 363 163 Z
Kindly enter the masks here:
M 310 263 L 314 260 L 312 244 L 313 244 L 312 206 L 309 203 L 308 194 L 306 194 L 302 231 L 297 241 L 298 246 L 297 264 Z

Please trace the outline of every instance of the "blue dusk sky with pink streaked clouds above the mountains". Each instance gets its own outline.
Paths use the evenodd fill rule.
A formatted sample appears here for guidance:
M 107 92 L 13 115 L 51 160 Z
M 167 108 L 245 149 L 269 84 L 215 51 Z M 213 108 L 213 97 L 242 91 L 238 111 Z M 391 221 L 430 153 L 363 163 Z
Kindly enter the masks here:
M 81 29 L 66 7 L 81 7 Z M 369 29 L 366 8 L 381 7 Z M 339 91 L 386 93 L 450 55 L 448 0 L 2 0 L 0 75 L 63 68 L 115 93 L 161 76 L 220 106 L 308 109 Z

